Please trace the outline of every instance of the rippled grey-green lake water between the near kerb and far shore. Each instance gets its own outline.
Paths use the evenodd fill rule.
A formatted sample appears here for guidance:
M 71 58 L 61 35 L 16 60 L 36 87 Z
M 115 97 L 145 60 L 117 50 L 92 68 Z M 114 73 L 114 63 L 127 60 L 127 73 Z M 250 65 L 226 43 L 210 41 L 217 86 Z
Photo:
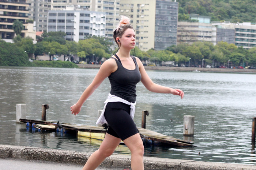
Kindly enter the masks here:
M 83 104 L 79 115 L 70 113 L 97 69 L 0 67 L 0 144 L 92 152 L 100 142 L 68 134 L 39 133 L 16 124 L 16 104 L 27 104 L 27 119 L 41 120 L 42 104 L 49 104 L 46 120 L 94 126 L 98 110 L 110 91 L 103 81 Z M 183 116 L 195 116 L 197 147 L 146 146 L 145 156 L 197 161 L 256 164 L 251 143 L 256 116 L 256 74 L 147 71 L 158 84 L 180 88 L 184 99 L 147 91 L 137 86 L 134 121 L 141 126 L 148 110 L 146 129 L 183 139 Z M 199 154 L 200 152 L 200 154 Z M 126 146 L 116 153 L 129 154 Z

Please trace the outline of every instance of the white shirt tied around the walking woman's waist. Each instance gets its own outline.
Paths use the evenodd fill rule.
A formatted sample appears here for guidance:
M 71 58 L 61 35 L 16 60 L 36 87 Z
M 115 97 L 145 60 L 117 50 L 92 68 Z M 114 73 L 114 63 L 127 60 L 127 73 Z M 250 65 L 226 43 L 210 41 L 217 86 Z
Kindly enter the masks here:
M 105 116 L 104 116 L 104 112 L 105 112 L 105 110 L 106 110 L 106 106 L 107 106 L 108 102 L 122 102 L 122 103 L 125 103 L 125 104 L 128 104 L 128 105 L 131 105 L 131 107 L 130 107 L 130 108 L 131 108 L 130 116 L 132 117 L 132 120 L 133 120 L 133 118 L 134 118 L 134 113 L 135 113 L 135 104 L 136 104 L 136 102 L 131 103 L 131 102 L 128 102 L 127 100 L 124 100 L 124 99 L 122 99 L 122 98 L 120 98 L 120 97 L 117 97 L 117 96 L 115 96 L 115 95 L 109 94 L 108 98 L 107 98 L 106 101 L 104 102 L 104 103 L 105 103 L 105 106 L 104 106 L 103 111 L 102 111 L 101 115 L 99 116 L 99 118 L 98 118 L 96 124 L 108 123 L 108 122 L 106 121 L 106 119 L 105 119 Z

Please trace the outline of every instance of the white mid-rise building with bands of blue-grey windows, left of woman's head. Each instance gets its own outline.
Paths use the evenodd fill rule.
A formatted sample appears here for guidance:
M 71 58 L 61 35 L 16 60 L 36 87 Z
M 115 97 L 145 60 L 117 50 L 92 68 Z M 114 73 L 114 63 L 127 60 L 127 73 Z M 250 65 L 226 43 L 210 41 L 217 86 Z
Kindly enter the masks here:
M 65 40 L 78 42 L 88 35 L 105 36 L 105 25 L 105 12 L 51 10 L 47 32 L 62 31 L 66 33 Z

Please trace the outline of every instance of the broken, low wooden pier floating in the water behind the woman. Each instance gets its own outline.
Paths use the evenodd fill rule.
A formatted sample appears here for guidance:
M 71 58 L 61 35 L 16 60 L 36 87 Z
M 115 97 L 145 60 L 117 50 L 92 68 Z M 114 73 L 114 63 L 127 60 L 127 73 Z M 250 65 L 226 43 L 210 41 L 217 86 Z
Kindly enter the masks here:
M 62 126 L 64 131 L 68 133 L 76 133 L 78 136 L 89 137 L 93 139 L 103 140 L 106 134 L 106 129 L 104 127 L 97 126 L 85 126 L 80 124 L 68 124 L 68 123 L 59 123 L 52 121 L 43 121 L 43 120 L 31 120 L 31 119 L 19 119 L 20 122 L 29 122 L 30 125 L 35 123 L 35 128 L 40 130 L 52 130 L 56 131 L 59 126 Z M 181 139 L 176 139 L 167 135 L 163 135 L 148 129 L 138 128 L 140 137 L 143 142 L 167 146 L 186 146 L 193 147 L 194 143 L 192 141 L 184 141 Z

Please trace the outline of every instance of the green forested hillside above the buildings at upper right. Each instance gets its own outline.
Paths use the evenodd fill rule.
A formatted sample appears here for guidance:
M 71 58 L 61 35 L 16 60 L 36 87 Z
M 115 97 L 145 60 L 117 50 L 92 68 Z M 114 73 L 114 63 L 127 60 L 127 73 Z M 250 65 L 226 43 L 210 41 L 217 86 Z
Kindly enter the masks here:
M 211 16 L 211 21 L 256 22 L 256 0 L 177 0 L 179 20 L 189 13 Z

